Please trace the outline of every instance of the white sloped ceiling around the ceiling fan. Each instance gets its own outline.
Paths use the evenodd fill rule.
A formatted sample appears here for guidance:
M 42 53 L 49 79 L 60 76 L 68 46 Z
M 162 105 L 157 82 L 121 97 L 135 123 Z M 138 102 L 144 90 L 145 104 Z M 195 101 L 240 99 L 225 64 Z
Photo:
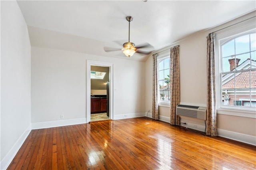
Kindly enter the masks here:
M 206 30 L 256 10 L 256 1 L 18 1 L 32 46 L 66 49 L 125 58 L 122 51 L 106 53 L 104 46 L 128 42 L 126 16 L 134 19 L 130 41 L 148 42 L 157 50 L 194 32 Z M 116 43 L 118 42 L 118 43 Z M 145 61 L 146 56 L 130 59 Z

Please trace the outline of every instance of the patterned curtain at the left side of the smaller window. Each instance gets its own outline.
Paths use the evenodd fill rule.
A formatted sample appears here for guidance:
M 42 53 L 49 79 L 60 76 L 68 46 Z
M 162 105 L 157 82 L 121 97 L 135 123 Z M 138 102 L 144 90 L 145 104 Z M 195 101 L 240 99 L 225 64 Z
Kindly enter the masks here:
M 157 79 L 157 54 L 153 55 L 153 99 L 152 118 L 158 120 L 158 79 Z

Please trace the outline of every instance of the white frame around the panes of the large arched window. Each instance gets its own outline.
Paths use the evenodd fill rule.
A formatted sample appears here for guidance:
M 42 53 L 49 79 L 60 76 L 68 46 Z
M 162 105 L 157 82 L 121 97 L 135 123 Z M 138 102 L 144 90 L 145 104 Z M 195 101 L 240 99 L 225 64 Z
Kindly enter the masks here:
M 222 72 L 221 45 L 252 32 L 256 32 L 256 22 L 254 18 L 215 33 L 216 109 L 218 114 L 256 118 L 256 109 L 254 107 L 225 106 L 221 104 L 221 73 L 224 73 Z

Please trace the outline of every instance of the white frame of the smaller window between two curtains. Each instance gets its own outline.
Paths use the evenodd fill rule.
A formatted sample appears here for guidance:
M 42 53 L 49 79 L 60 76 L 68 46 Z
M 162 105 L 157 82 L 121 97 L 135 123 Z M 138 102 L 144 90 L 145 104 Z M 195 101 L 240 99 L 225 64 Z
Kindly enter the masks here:
M 157 57 L 157 82 L 159 83 L 159 64 L 161 61 L 164 61 L 165 59 L 169 58 L 170 59 L 170 51 L 168 50 L 168 53 L 163 53 L 162 55 L 158 55 Z M 169 74 L 170 74 L 170 65 L 169 65 Z M 159 84 L 158 84 L 159 88 Z M 166 100 L 160 100 L 160 90 L 158 89 L 157 95 L 158 95 L 158 105 L 163 106 L 163 107 L 170 107 L 170 101 Z

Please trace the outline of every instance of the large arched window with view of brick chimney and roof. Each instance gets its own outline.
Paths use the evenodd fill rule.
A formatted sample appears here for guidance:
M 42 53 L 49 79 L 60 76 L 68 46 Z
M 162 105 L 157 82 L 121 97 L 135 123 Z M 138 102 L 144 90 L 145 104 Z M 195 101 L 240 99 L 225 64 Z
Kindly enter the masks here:
M 255 25 L 255 24 L 254 24 Z M 220 85 L 218 107 L 254 110 L 256 108 L 256 30 L 255 26 L 232 30 L 233 35 L 216 34 L 217 76 Z M 253 28 L 254 27 L 254 28 Z M 218 59 L 219 59 L 219 62 Z M 219 73 L 218 73 L 219 72 Z M 218 76 L 219 75 L 219 76 Z M 217 85 L 217 83 L 216 83 Z M 218 88 L 217 88 L 218 89 Z

